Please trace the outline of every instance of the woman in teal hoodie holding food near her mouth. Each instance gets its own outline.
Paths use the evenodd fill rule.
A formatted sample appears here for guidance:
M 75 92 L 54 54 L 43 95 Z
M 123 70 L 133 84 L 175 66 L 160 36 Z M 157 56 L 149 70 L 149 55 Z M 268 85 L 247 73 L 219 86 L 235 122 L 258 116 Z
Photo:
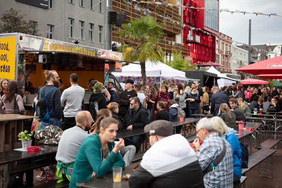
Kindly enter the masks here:
M 120 149 L 124 148 L 124 140 L 114 143 L 118 131 L 118 121 L 112 117 L 98 118 L 93 135 L 88 136 L 82 143 L 74 161 L 74 168 L 69 187 L 76 187 L 92 177 L 102 178 L 112 167 L 125 167 Z

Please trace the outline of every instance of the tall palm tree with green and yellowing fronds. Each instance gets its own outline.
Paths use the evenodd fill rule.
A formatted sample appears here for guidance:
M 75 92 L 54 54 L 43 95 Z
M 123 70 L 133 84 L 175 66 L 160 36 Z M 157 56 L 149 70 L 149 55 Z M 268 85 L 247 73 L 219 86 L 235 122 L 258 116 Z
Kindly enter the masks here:
M 158 40 L 166 36 L 162 30 L 164 24 L 157 25 L 155 18 L 146 16 L 138 19 L 130 18 L 131 23 L 122 24 L 124 31 L 118 31 L 120 38 L 131 40 L 136 44 L 121 45 L 118 48 L 122 52 L 124 61 L 139 61 L 141 66 L 142 85 L 146 84 L 145 63 L 150 61 L 154 64 L 164 62 L 165 53 L 158 45 Z

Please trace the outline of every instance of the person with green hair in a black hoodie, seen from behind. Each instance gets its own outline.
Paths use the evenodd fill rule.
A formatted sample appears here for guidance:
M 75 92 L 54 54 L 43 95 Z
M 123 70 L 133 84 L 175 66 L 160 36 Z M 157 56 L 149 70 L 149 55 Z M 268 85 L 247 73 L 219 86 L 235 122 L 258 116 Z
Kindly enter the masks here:
M 96 82 L 91 88 L 93 90 L 89 98 L 89 112 L 94 121 L 97 119 L 98 111 L 107 108 L 106 98 L 103 95 L 104 86 L 101 82 Z

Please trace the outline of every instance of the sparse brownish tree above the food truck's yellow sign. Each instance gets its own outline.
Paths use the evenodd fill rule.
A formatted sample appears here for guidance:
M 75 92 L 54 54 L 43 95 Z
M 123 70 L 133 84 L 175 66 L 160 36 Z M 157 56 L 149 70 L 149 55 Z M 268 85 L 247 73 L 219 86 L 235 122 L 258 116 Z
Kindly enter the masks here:
M 32 21 L 25 21 L 25 15 L 19 15 L 21 11 L 9 9 L 1 17 L 3 25 L 0 24 L 0 33 L 25 33 L 29 35 L 38 35 L 36 25 Z

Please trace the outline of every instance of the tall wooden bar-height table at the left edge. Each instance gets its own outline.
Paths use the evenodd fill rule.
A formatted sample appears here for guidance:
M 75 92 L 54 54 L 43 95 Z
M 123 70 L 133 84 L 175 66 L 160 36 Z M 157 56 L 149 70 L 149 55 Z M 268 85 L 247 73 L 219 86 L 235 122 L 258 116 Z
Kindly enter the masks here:
M 36 118 L 19 114 L 0 114 L 0 152 L 4 151 L 4 144 L 15 149 L 17 135 L 23 131 L 23 121 Z

